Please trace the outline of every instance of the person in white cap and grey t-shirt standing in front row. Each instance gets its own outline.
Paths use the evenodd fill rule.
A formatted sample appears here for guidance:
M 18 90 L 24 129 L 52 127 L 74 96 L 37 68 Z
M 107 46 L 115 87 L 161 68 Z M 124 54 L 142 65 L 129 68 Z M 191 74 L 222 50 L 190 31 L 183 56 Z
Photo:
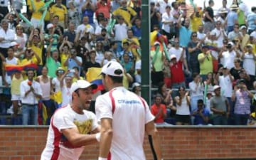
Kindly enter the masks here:
M 210 110 L 213 111 L 214 125 L 227 125 L 230 114 L 228 100 L 220 94 L 220 86 L 213 87 L 214 95 L 210 98 Z

